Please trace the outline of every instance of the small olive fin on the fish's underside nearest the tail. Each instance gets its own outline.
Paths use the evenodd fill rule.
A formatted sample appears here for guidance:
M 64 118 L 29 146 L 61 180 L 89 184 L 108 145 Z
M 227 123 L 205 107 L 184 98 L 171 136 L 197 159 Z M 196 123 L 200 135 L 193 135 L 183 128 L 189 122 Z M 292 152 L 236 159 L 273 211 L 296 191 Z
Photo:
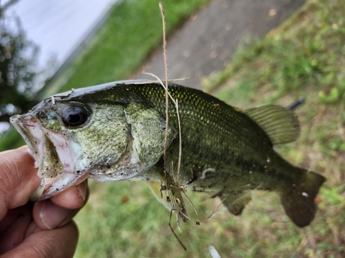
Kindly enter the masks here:
M 221 195 L 220 199 L 223 200 L 224 197 L 226 199 L 223 201 L 224 206 L 228 208 L 230 213 L 233 215 L 240 215 L 250 200 L 252 200 L 252 195 L 248 192 L 244 193 L 229 193 L 227 195 Z

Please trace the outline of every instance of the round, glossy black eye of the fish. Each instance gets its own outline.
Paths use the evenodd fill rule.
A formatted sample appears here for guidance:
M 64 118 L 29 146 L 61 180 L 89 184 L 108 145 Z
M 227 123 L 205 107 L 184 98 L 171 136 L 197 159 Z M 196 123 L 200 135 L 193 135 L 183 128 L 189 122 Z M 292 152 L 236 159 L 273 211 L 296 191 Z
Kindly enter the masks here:
M 61 117 L 68 127 L 77 127 L 88 120 L 88 111 L 84 107 L 67 106 L 63 109 Z

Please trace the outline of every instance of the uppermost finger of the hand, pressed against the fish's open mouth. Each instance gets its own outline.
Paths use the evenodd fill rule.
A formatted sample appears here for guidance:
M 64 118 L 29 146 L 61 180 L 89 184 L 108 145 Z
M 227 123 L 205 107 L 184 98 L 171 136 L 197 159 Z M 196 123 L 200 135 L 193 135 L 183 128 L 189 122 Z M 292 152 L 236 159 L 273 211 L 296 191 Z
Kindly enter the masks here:
M 41 179 L 34 168 L 28 147 L 0 153 L 0 219 L 8 209 L 23 206 L 39 186 Z

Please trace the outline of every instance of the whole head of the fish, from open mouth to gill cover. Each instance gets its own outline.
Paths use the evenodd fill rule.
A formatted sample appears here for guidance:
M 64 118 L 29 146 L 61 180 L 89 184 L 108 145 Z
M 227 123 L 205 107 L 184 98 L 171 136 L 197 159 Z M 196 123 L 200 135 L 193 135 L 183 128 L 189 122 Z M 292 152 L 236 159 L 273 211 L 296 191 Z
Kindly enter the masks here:
M 42 178 L 31 200 L 45 200 L 89 177 L 103 182 L 136 177 L 164 152 L 165 120 L 157 111 L 70 95 L 53 96 L 10 118 Z

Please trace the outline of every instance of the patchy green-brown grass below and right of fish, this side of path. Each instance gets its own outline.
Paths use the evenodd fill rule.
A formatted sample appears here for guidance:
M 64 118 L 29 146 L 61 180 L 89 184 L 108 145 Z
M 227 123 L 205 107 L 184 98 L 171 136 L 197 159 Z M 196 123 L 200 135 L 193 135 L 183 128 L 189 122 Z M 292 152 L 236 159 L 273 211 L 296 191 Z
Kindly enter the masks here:
M 157 11 L 155 11 L 157 12 Z M 302 134 L 277 146 L 284 158 L 326 176 L 311 226 L 288 220 L 275 193 L 256 192 L 241 216 L 220 206 L 197 226 L 172 226 L 169 211 L 155 200 L 146 182 L 90 182 L 88 204 L 77 215 L 80 240 L 76 257 L 345 257 L 345 5 L 342 0 L 308 1 L 300 12 L 264 39 L 248 43 L 229 67 L 209 78 L 208 91 L 243 109 L 268 103 L 297 109 Z M 92 84 L 92 83 L 89 83 Z M 204 219 L 219 200 L 192 193 Z

